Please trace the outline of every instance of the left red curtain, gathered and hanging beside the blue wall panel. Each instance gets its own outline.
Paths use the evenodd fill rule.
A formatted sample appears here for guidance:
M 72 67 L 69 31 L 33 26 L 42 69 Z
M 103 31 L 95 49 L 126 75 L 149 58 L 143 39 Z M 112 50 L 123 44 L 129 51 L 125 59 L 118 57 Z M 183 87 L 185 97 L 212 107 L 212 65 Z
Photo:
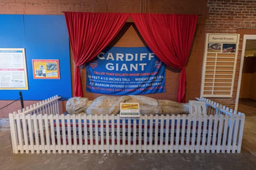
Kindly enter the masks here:
M 129 14 L 64 12 L 76 64 L 74 96 L 83 96 L 80 65 L 90 62 L 113 40 Z

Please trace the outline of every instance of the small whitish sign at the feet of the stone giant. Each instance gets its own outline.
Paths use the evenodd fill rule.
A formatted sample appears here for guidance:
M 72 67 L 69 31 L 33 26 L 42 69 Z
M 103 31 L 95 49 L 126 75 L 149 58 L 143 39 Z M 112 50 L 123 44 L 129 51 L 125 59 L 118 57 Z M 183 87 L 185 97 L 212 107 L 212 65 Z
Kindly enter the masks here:
M 206 102 L 205 101 L 197 101 L 197 100 L 189 100 L 189 114 L 192 115 L 206 115 Z

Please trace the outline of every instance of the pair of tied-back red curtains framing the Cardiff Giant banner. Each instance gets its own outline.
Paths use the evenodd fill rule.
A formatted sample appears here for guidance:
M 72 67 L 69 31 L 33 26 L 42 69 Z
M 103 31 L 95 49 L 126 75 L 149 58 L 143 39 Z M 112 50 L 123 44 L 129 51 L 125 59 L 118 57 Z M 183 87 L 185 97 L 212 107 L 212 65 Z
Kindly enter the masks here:
M 178 102 L 185 102 L 186 63 L 198 15 L 65 12 L 76 63 L 75 96 L 82 96 L 79 66 L 101 52 L 131 16 L 143 39 L 166 65 L 181 70 Z

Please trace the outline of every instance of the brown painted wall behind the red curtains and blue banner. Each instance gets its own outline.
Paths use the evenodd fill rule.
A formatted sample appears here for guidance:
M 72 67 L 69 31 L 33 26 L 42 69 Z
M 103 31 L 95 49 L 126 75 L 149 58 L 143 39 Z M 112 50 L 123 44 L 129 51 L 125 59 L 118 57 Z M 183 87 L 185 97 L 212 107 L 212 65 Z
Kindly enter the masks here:
M 195 31 L 189 61 L 186 66 L 187 88 L 186 99 L 200 96 L 201 70 L 204 53 L 205 19 L 208 13 L 207 0 L 0 0 L 0 14 L 63 14 L 61 11 L 84 12 L 126 12 L 126 13 L 169 13 L 169 14 L 201 14 Z M 132 22 L 131 19 L 128 20 Z M 144 46 L 133 23 L 126 23 L 119 35 L 111 43 L 112 46 L 136 47 Z M 72 55 L 71 63 L 72 62 Z M 72 75 L 74 65 L 71 65 Z M 147 95 L 157 99 L 176 100 L 179 71 L 166 68 L 166 92 Z M 86 71 L 81 71 L 82 82 L 85 85 Z M 72 76 L 73 79 L 73 76 Z M 73 85 L 73 82 L 72 82 Z M 83 87 L 83 89 L 85 89 Z M 55 94 L 52 94 L 55 95 Z M 84 96 L 94 99 L 102 94 Z M 11 101 L 0 101 L 0 107 Z M 27 101 L 35 102 L 35 101 Z M 63 103 L 63 107 L 64 107 Z M 0 110 L 0 117 L 20 107 L 19 102 Z

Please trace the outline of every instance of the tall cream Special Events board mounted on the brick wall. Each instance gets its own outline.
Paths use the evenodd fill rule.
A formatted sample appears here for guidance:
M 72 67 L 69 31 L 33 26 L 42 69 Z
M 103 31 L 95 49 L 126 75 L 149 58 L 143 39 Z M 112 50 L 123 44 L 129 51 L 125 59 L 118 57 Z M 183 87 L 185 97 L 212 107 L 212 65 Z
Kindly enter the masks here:
M 239 34 L 206 34 L 201 96 L 232 97 Z

